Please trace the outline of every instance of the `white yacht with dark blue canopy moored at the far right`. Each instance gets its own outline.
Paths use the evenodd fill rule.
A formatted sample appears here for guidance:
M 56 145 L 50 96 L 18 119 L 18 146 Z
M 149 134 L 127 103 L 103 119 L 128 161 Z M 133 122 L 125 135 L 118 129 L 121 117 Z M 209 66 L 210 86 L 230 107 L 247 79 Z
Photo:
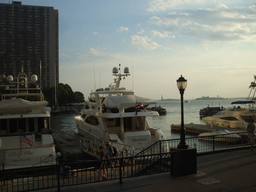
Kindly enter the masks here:
M 254 101 L 236 101 L 231 104 L 251 104 L 253 106 Z M 256 118 L 256 110 L 249 108 L 241 108 L 238 106 L 232 109 L 226 109 L 216 113 L 214 116 L 203 118 L 206 125 L 214 125 L 218 127 L 230 127 L 246 129 L 246 125 L 252 118 Z

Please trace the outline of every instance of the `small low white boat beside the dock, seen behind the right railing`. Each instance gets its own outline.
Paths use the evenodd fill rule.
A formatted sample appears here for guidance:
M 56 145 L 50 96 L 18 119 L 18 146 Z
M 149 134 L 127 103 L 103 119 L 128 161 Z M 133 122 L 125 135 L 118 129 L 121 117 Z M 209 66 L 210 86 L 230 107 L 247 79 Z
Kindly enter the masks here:
M 231 133 L 231 132 L 228 130 L 216 130 L 216 131 L 211 131 L 207 133 L 201 133 L 199 134 L 199 136 L 204 136 L 204 137 L 201 137 L 199 139 L 212 141 L 214 138 L 214 141 L 216 142 L 228 142 L 228 143 L 236 143 L 242 139 L 241 136 L 238 134 L 229 135 L 228 133 Z

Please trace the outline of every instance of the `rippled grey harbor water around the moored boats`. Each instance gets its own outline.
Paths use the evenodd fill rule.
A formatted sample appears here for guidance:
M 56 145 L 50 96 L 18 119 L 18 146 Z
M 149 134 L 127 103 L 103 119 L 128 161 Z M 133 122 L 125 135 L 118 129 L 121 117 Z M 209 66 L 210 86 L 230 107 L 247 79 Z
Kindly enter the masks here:
M 238 101 L 237 99 L 230 100 L 211 100 L 211 101 L 189 101 L 184 102 L 184 124 L 194 123 L 194 124 L 204 124 L 203 120 L 199 118 L 199 111 L 202 108 L 223 106 L 224 108 L 232 107 L 231 102 Z M 167 114 L 161 116 L 147 117 L 147 121 L 151 127 L 157 127 L 162 130 L 165 134 L 166 139 L 176 139 L 180 138 L 178 132 L 171 132 L 170 125 L 181 123 L 181 103 L 180 101 L 155 101 L 157 106 L 166 108 Z M 74 117 L 78 114 L 68 113 L 59 114 L 58 116 L 51 116 L 51 128 L 56 130 L 65 131 L 67 129 L 73 129 L 78 132 Z M 196 136 L 187 133 L 186 137 Z

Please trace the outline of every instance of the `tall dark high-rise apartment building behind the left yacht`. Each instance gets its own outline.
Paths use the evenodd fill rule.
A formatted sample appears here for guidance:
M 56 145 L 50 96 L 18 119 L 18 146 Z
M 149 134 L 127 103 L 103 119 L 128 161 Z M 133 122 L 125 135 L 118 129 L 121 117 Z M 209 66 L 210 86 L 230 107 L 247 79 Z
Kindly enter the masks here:
M 22 65 L 44 87 L 53 87 L 54 77 L 59 83 L 58 10 L 19 1 L 0 3 L 0 74 L 16 79 Z

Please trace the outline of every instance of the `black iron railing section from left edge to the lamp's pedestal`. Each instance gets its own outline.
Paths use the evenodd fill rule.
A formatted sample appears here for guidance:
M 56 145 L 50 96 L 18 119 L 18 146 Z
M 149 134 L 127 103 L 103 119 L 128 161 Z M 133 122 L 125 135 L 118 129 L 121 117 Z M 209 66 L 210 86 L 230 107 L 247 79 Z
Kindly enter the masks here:
M 58 188 L 172 172 L 176 152 L 49 166 L 0 170 L 0 191 L 18 192 Z M 102 161 L 105 166 L 101 167 Z

